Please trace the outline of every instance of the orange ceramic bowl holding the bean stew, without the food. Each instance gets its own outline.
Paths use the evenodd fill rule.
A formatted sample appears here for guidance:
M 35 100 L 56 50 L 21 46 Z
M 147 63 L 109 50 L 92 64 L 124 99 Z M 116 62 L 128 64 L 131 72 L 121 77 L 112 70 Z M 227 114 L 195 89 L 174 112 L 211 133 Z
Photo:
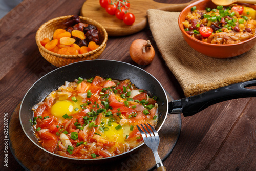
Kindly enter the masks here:
M 256 5 L 252 4 L 244 4 L 244 3 L 237 3 L 239 5 L 246 5 L 248 7 L 256 9 Z M 216 45 L 216 44 L 209 44 L 203 41 L 200 41 L 196 38 L 189 36 L 183 27 L 182 22 L 184 22 L 187 14 L 190 12 L 191 7 L 196 6 L 197 10 L 205 10 L 206 7 L 210 7 L 211 9 L 216 8 L 217 5 L 211 2 L 211 0 L 200 0 L 196 1 L 186 8 L 184 8 L 179 16 L 178 22 L 179 27 L 182 32 L 184 39 L 186 40 L 187 44 L 195 49 L 196 51 L 210 56 L 214 58 L 230 58 L 234 56 L 241 55 L 247 51 L 249 51 L 254 45 L 256 44 L 256 36 L 240 42 L 238 44 L 231 44 L 231 45 Z

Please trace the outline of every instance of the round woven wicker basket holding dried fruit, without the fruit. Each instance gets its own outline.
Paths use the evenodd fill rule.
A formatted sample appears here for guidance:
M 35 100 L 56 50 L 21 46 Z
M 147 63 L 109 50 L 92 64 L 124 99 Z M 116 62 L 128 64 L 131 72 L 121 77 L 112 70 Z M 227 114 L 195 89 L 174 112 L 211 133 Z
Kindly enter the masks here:
M 100 46 L 90 52 L 84 53 L 84 54 L 78 54 L 78 55 L 61 55 L 54 52 L 51 52 L 47 50 L 44 46 L 41 45 L 40 41 L 44 38 L 49 38 L 50 40 L 53 37 L 53 33 L 56 29 L 62 28 L 64 29 L 65 26 L 62 25 L 62 22 L 72 17 L 72 15 L 69 16 L 61 16 L 58 18 L 54 18 L 43 24 L 36 32 L 36 44 L 39 48 L 39 51 L 47 61 L 52 63 L 56 67 L 65 66 L 69 63 L 78 62 L 82 60 L 91 60 L 91 59 L 97 59 L 101 53 L 104 51 L 106 47 L 106 41 L 108 40 L 108 34 L 106 33 L 106 30 L 103 28 L 102 25 L 100 25 L 95 20 L 92 20 L 90 18 L 82 17 L 80 16 L 81 22 L 86 24 L 92 24 L 96 26 L 99 30 L 99 43 Z

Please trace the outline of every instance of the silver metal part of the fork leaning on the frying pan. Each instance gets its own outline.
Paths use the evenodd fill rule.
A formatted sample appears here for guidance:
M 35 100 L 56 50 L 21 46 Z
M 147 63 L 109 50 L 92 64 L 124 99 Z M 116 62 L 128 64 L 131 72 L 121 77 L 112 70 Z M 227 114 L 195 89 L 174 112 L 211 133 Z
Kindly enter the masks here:
M 158 155 L 158 152 L 157 152 L 157 148 L 158 148 L 158 145 L 159 145 L 159 142 L 160 142 L 160 138 L 159 138 L 159 135 L 157 133 L 157 131 L 154 129 L 153 126 L 151 126 L 149 123 L 148 123 L 148 126 L 150 126 L 151 130 L 147 127 L 146 124 L 144 124 L 144 126 L 142 124 L 140 124 L 141 127 L 143 128 L 143 130 L 145 131 L 145 133 L 140 129 L 140 127 L 137 125 L 141 135 L 142 135 L 142 138 L 145 142 L 145 144 L 152 150 L 153 154 L 154 154 L 154 157 L 155 157 L 155 160 L 156 160 L 156 167 L 157 167 L 157 171 L 161 171 L 161 170 L 165 170 L 166 171 L 166 168 L 163 166 L 163 163 L 162 163 L 162 160 L 160 159 L 159 155 Z M 146 127 L 146 129 L 145 129 Z

